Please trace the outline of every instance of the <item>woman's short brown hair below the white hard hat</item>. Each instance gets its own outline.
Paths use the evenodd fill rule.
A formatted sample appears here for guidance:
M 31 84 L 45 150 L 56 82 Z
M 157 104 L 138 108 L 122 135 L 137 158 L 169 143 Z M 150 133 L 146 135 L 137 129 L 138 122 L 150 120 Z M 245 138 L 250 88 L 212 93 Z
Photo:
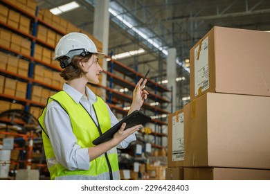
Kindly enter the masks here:
M 83 57 L 82 55 L 74 55 L 69 65 L 64 68 L 64 70 L 60 73 L 60 76 L 66 81 L 82 77 L 82 73 L 87 72 L 82 70 L 80 62 L 87 62 L 91 58 L 91 56 L 92 53 L 89 53 L 85 57 Z

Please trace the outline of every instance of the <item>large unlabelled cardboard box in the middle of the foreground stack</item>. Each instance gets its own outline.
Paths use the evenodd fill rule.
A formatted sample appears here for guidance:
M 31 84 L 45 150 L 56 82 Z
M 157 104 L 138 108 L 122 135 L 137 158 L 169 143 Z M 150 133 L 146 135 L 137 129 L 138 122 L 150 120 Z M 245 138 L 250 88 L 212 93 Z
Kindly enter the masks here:
M 183 107 L 184 166 L 270 169 L 270 98 L 207 93 Z

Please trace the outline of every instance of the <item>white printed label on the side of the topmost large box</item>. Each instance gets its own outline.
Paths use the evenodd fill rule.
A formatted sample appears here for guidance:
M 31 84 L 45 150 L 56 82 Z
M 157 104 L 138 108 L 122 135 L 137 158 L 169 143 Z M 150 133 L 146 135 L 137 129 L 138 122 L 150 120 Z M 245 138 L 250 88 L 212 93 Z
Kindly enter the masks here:
M 195 48 L 195 96 L 209 88 L 208 37 Z M 199 55 L 199 56 L 198 56 Z

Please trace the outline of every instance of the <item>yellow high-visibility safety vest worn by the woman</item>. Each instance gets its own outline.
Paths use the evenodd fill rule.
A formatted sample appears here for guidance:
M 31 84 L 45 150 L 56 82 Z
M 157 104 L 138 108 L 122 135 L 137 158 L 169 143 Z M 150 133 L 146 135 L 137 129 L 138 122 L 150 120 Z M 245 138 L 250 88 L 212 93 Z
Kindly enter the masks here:
M 60 91 L 57 94 L 51 96 L 51 98 L 48 99 L 48 103 L 50 103 L 51 100 L 55 100 L 60 103 L 66 113 L 69 114 L 73 133 L 77 137 L 78 145 L 80 145 L 81 148 L 89 148 L 95 146 L 93 145 L 92 141 L 96 139 L 100 134 L 98 132 L 98 127 L 91 119 L 91 116 L 88 114 L 87 110 L 85 110 L 80 103 L 75 103 L 73 98 L 71 98 L 69 94 L 66 94 L 65 91 Z M 96 117 L 98 118 L 100 129 L 102 133 L 104 133 L 111 127 L 111 121 L 106 104 L 102 98 L 98 97 L 97 102 L 93 103 L 93 107 L 96 111 Z M 109 165 L 111 166 L 113 179 L 120 179 L 116 148 L 113 148 L 107 152 L 107 159 L 109 159 L 109 164 L 107 163 L 106 156 L 101 155 L 100 157 L 90 162 L 89 170 L 68 170 L 62 166 L 62 164 L 57 162 L 51 141 L 46 130 L 46 126 L 44 124 L 45 113 L 46 107 L 44 108 L 42 115 L 38 118 L 38 120 L 43 129 L 42 139 L 51 179 L 109 179 Z

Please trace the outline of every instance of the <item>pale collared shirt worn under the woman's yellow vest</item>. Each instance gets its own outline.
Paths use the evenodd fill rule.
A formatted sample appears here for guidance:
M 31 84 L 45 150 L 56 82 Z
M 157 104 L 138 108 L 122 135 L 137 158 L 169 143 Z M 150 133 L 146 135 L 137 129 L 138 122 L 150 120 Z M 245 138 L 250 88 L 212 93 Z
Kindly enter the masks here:
M 86 87 L 86 89 L 87 96 L 89 97 L 88 99 L 86 96 L 82 95 L 79 91 L 66 83 L 63 87 L 63 90 L 66 91 L 66 93 L 69 94 L 69 96 L 71 96 L 76 103 L 82 103 L 93 120 L 98 123 L 96 114 L 92 107 L 93 103 L 96 102 L 97 97 L 95 94 L 93 94 L 91 89 L 88 87 Z M 114 113 L 111 112 L 108 105 L 107 109 L 111 118 L 111 126 L 114 126 L 116 123 L 118 123 L 118 119 Z M 47 105 L 45 125 L 57 161 L 69 170 L 88 170 L 90 167 L 88 148 L 81 148 L 80 145 L 77 144 L 75 134 L 72 132 L 69 115 L 66 114 L 64 109 L 55 101 L 51 101 Z M 119 143 L 117 148 L 127 148 L 129 143 L 135 140 L 136 136 L 135 134 L 132 134 L 124 141 Z

